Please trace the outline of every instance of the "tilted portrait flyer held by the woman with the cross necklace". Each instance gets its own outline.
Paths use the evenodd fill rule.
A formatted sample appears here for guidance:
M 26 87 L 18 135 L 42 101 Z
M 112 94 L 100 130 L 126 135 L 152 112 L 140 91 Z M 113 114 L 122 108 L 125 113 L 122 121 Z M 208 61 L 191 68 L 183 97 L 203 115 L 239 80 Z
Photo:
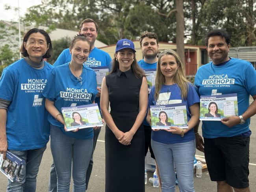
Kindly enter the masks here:
M 67 131 L 72 131 L 77 128 L 83 129 L 94 126 L 103 126 L 97 103 L 74 107 L 62 107 L 61 112 Z

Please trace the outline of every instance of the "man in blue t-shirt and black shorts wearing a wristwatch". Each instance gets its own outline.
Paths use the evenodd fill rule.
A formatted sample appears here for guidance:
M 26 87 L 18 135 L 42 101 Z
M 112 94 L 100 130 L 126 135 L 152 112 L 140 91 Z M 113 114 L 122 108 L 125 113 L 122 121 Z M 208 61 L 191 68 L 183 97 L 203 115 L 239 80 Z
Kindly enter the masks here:
M 217 190 L 249 192 L 250 117 L 256 113 L 256 71 L 248 61 L 228 57 L 230 36 L 212 30 L 206 37 L 206 50 L 212 62 L 201 66 L 195 86 L 201 96 L 237 94 L 238 116 L 221 121 L 203 121 L 204 143 L 198 133 L 197 149 L 203 150 L 211 181 Z M 254 101 L 249 105 L 249 96 Z

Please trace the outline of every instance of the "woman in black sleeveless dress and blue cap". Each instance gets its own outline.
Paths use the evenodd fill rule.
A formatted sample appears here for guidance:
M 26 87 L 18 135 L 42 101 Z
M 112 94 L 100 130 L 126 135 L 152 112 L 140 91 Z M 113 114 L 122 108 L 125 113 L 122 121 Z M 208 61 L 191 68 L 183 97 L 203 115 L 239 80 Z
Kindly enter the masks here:
M 105 191 L 144 192 L 142 122 L 147 111 L 148 86 L 144 72 L 137 65 L 132 41 L 122 39 L 117 42 L 112 65 L 112 71 L 102 81 L 100 99 L 106 122 Z

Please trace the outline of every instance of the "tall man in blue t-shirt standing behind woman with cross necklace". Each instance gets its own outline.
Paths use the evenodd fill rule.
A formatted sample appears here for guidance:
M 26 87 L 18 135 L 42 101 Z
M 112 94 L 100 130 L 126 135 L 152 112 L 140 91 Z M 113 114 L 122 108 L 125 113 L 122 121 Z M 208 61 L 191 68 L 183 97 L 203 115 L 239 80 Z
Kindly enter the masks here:
M 107 52 L 104 52 L 94 46 L 96 38 L 98 36 L 98 24 L 92 20 L 91 18 L 86 18 L 82 21 L 79 26 L 79 34 L 83 34 L 87 40 L 91 43 L 91 52 L 87 61 L 85 61 L 84 65 L 93 68 L 102 68 L 107 67 L 111 68 L 111 57 Z M 63 50 L 59 55 L 58 59 L 55 61 L 53 66 L 63 65 L 71 61 L 71 54 L 69 48 Z M 97 87 L 98 94 L 96 95 L 95 103 L 98 103 L 98 107 L 100 109 L 100 92 L 101 89 Z M 100 133 L 100 129 L 93 130 L 93 152 L 96 147 L 96 142 L 98 139 L 98 135 Z M 93 153 L 91 155 L 91 160 L 86 173 L 86 190 L 88 188 L 89 179 L 91 176 L 91 171 L 93 169 Z M 54 167 L 54 163 L 51 166 L 50 170 L 50 183 L 49 183 L 49 191 L 56 192 L 57 191 L 57 175 Z

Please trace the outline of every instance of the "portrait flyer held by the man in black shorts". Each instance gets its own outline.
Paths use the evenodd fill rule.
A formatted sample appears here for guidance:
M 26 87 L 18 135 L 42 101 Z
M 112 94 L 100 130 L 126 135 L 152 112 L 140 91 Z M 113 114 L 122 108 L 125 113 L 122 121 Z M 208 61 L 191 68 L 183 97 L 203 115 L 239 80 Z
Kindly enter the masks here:
M 200 120 L 220 121 L 238 115 L 237 94 L 200 96 Z

